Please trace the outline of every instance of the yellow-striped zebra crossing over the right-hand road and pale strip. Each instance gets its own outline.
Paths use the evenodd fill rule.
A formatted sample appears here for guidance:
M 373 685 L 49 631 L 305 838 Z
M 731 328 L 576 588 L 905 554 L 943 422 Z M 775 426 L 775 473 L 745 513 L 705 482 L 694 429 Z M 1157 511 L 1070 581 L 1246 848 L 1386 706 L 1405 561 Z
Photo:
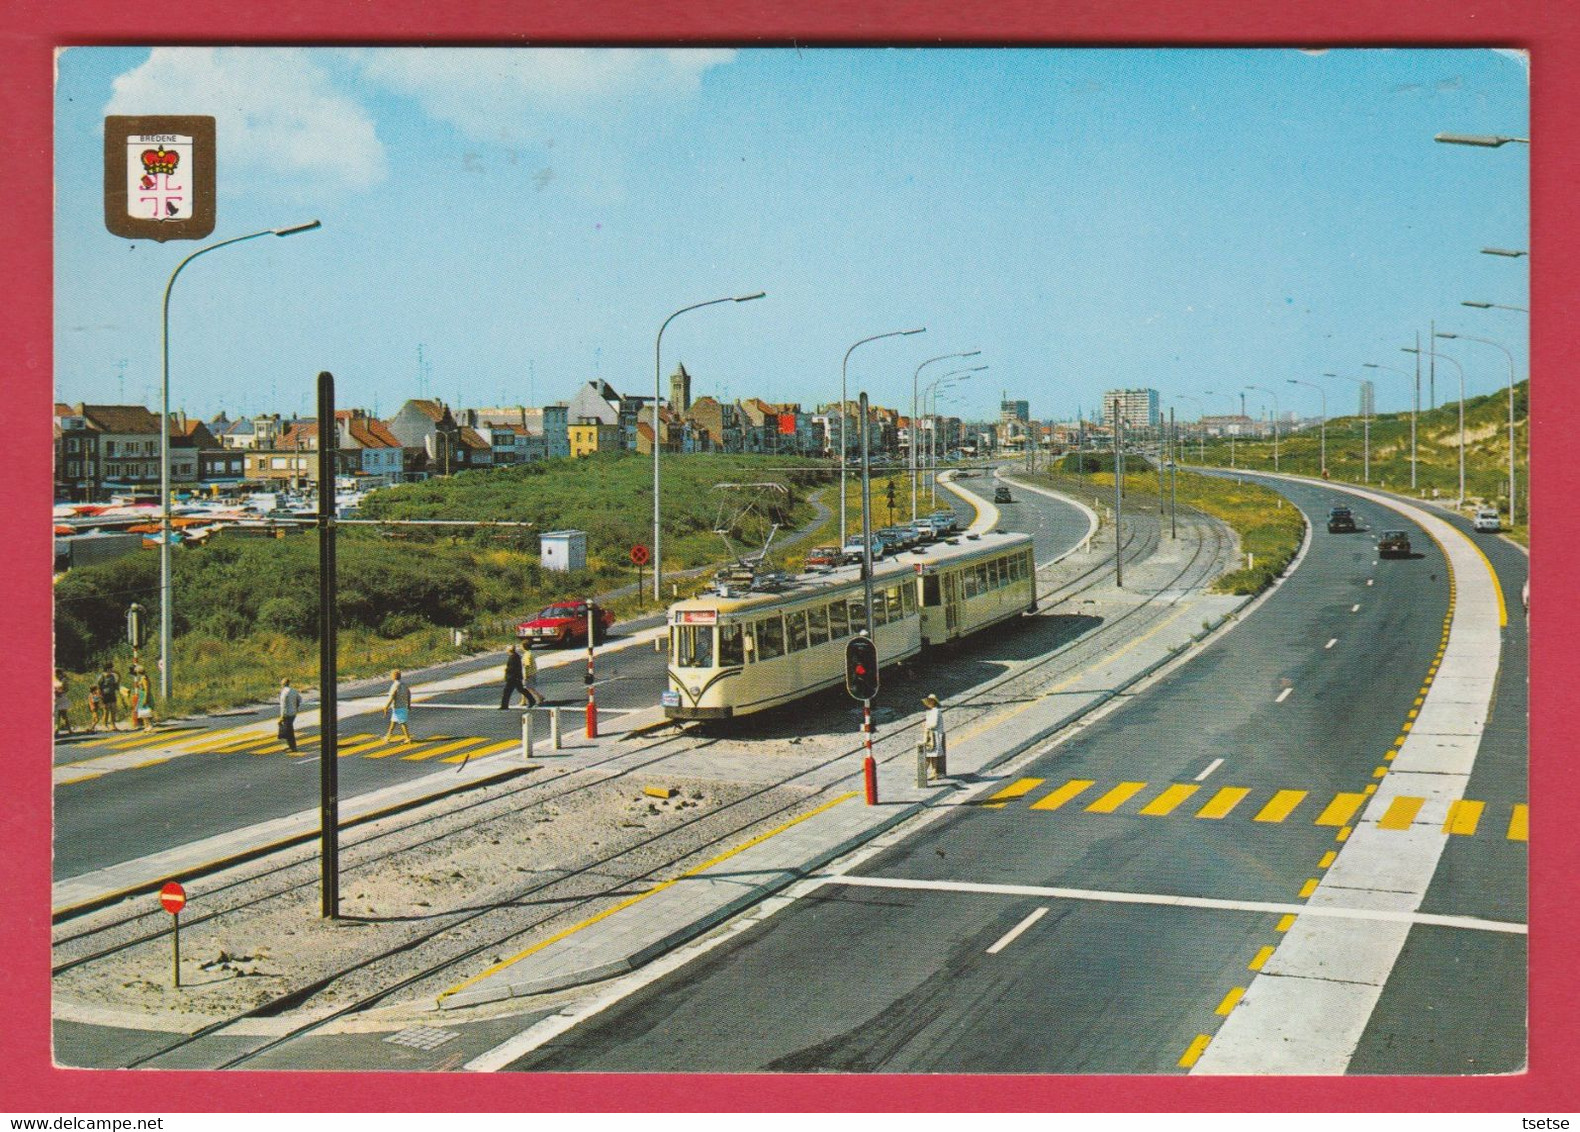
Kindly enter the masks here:
M 1025 803 L 1029 811 L 1036 813 L 1179 816 L 1215 822 L 1248 819 L 1267 825 L 1304 821 L 1345 830 L 1376 792 L 1375 786 L 1354 794 L 1297 789 L 1258 792 L 1250 786 L 1204 787 L 1198 783 L 1168 783 L 1157 789 L 1152 783 L 1100 784 L 1092 778 L 1071 778 L 1041 792 L 1046 786 L 1049 779 L 1019 778 L 975 805 L 984 809 L 1003 809 L 1011 803 Z M 1397 795 L 1376 819 L 1376 827 L 1417 828 L 1422 825 L 1420 813 L 1427 803 L 1425 797 Z M 1477 833 L 1485 836 L 1501 832 L 1507 841 L 1528 841 L 1529 806 L 1523 802 L 1493 806 L 1474 798 L 1457 798 L 1449 803 L 1439 828 L 1452 836 Z

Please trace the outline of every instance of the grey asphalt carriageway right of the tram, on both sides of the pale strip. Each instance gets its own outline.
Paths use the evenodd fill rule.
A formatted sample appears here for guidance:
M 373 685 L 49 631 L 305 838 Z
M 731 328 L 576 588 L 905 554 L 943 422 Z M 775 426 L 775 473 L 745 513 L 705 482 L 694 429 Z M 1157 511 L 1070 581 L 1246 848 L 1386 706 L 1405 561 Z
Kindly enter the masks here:
M 1285 490 L 1316 523 L 1335 501 Z M 1316 526 L 1251 620 L 1024 768 L 1019 797 L 954 811 L 514 1067 L 1183 1072 L 1291 923 L 1258 904 L 1302 906 L 1431 664 L 1446 561 L 1419 528 L 1405 561 L 1371 539 Z M 1450 844 L 1422 911 L 1496 915 L 1523 890 L 1525 846 L 1503 833 L 1523 794 L 1499 762 L 1477 765 L 1488 821 Z M 1157 903 L 1172 898 L 1226 906 Z M 1518 1064 L 1523 1036 L 1480 1024 L 1523 1006 L 1507 942 L 1416 928 L 1352 1070 Z M 1487 993 L 1457 994 L 1446 968 L 1469 958 L 1495 964 Z M 1430 1040 L 1444 1029 L 1474 1064 Z M 1401 1032 L 1414 1045 L 1390 1051 Z

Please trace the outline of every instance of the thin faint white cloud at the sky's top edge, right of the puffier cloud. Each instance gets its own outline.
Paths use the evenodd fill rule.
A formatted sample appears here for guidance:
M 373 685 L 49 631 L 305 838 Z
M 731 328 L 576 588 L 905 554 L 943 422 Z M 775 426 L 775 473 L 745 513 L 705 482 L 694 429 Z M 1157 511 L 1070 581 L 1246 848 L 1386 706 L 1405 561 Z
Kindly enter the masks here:
M 728 49 L 398 47 L 354 52 L 363 77 L 416 98 L 472 138 L 520 136 L 532 114 L 600 114 L 621 104 L 683 101 Z

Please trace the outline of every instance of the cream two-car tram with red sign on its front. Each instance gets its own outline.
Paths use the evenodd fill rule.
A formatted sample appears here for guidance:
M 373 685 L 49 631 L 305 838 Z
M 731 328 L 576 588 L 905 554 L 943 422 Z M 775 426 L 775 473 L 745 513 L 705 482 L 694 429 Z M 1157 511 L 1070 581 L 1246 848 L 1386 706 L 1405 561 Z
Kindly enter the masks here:
M 845 640 L 869 629 L 886 666 L 1036 610 L 1025 534 L 965 534 L 872 566 L 872 626 L 860 566 L 736 577 L 670 606 L 670 719 L 730 719 L 844 680 Z

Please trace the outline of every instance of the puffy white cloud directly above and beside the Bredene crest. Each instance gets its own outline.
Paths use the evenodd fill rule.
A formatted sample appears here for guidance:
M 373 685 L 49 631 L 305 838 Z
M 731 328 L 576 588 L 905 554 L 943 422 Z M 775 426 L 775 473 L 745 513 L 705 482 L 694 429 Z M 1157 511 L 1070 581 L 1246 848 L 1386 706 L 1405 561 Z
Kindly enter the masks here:
M 104 112 L 213 115 L 221 185 L 365 190 L 387 171 L 367 109 L 307 51 L 156 47 L 115 79 Z

